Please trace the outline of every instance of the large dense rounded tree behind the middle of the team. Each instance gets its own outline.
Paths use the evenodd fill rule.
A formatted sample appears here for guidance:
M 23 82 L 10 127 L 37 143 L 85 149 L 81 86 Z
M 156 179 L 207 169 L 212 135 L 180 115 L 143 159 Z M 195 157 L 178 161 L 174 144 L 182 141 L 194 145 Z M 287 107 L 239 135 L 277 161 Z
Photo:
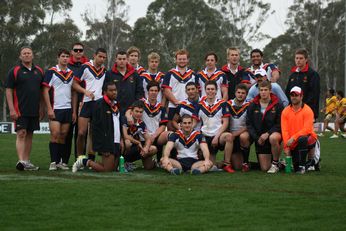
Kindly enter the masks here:
M 187 49 L 191 54 L 190 66 L 200 69 L 208 51 L 216 52 L 220 62 L 226 61 L 231 37 L 241 39 L 236 33 L 230 35 L 230 30 L 232 25 L 203 0 L 157 0 L 149 5 L 145 17 L 136 21 L 133 44 L 145 57 L 151 51 L 158 52 L 164 70 L 172 67 L 174 51 Z

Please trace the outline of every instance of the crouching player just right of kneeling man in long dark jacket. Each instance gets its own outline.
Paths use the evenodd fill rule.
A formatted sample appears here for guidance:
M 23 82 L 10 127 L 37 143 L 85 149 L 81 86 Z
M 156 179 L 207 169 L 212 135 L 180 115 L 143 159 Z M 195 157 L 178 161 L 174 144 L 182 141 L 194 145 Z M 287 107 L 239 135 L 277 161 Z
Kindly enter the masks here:
M 152 157 L 157 153 L 157 148 L 152 145 L 151 136 L 144 121 L 142 121 L 144 103 L 138 100 L 131 107 L 134 123 L 128 124 L 126 117 L 124 117 L 122 127 L 125 140 L 125 162 L 142 160 L 144 169 L 153 169 L 155 161 Z M 125 168 L 130 171 L 126 166 Z

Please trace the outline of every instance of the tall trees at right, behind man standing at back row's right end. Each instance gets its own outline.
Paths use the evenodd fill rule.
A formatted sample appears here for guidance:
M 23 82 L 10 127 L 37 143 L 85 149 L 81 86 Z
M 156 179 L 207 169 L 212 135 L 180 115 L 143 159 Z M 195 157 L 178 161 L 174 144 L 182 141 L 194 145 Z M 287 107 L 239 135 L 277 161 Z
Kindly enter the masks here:
M 288 76 L 289 67 L 294 64 L 294 51 L 306 48 L 310 65 L 321 76 L 321 92 L 343 86 L 344 12 L 345 5 L 340 0 L 296 0 L 288 14 L 289 29 L 273 39 L 264 52 L 280 65 L 283 76 Z

